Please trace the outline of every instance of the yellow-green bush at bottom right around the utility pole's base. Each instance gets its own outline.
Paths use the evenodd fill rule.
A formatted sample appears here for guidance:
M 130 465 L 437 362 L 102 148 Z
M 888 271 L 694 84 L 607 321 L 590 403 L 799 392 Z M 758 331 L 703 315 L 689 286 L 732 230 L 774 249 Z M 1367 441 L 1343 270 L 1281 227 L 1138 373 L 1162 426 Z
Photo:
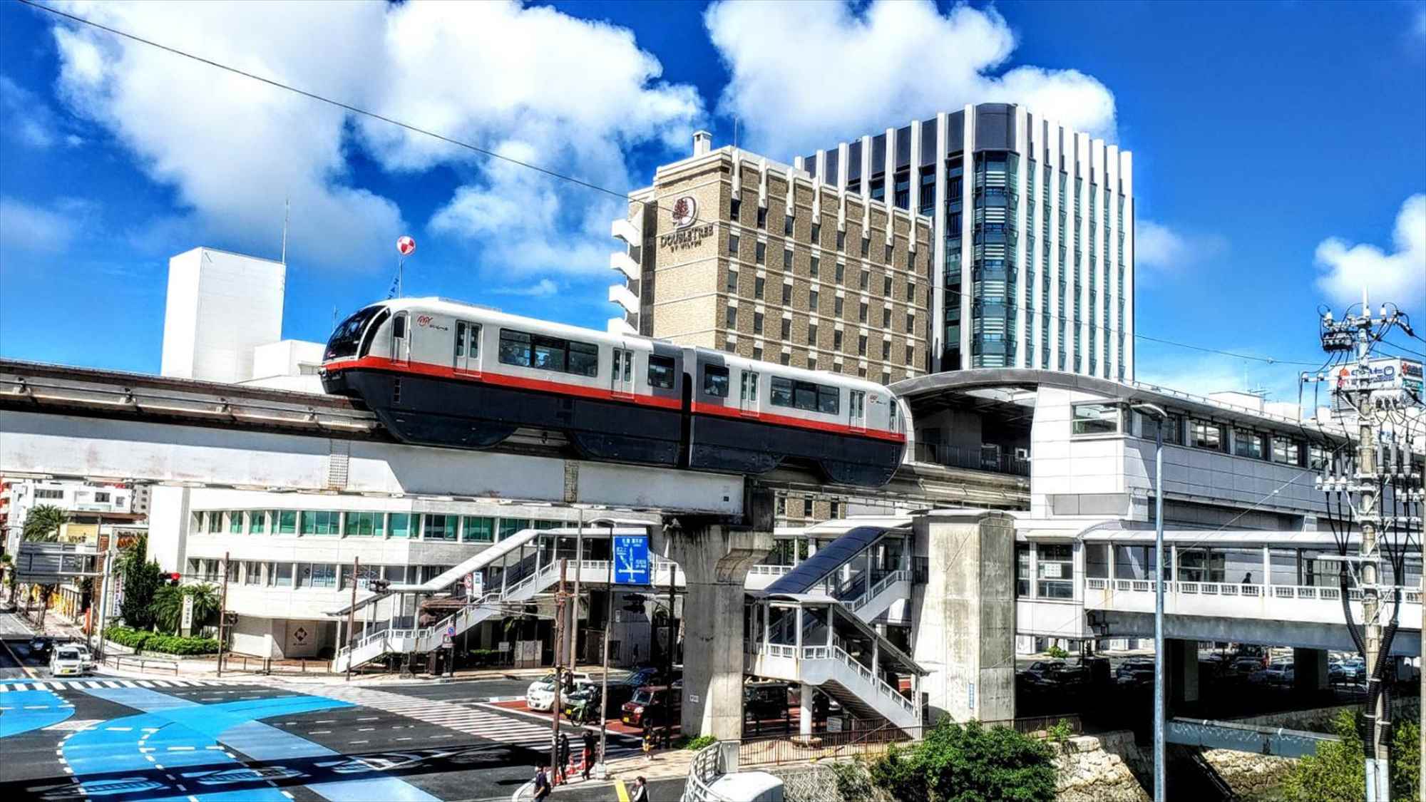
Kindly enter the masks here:
M 1392 738 L 1392 798 L 1416 799 L 1420 783 L 1420 728 L 1413 721 L 1396 724 Z M 1288 802 L 1356 802 L 1366 798 L 1366 752 L 1358 716 L 1342 711 L 1332 721 L 1342 741 L 1320 743 L 1316 755 L 1298 761 L 1283 781 Z

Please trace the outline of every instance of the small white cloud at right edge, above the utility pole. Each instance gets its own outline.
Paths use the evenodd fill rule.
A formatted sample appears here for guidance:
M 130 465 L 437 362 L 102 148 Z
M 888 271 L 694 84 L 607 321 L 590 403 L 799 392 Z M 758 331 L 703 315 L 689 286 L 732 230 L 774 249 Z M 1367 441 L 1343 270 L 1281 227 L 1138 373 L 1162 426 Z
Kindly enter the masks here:
M 1395 250 L 1349 244 L 1329 237 L 1318 244 L 1318 290 L 1336 304 L 1362 300 L 1362 290 L 1373 304 L 1392 301 L 1412 313 L 1426 311 L 1426 194 L 1406 198 L 1396 213 L 1392 233 Z

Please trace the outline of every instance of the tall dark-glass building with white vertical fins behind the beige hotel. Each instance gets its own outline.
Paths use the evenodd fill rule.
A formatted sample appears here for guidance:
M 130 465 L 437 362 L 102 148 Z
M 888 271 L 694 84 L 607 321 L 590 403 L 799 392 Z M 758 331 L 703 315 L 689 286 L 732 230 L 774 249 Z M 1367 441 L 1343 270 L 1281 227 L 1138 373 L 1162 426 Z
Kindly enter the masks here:
M 794 163 L 935 220 L 933 370 L 1134 378 L 1134 158 L 981 103 Z

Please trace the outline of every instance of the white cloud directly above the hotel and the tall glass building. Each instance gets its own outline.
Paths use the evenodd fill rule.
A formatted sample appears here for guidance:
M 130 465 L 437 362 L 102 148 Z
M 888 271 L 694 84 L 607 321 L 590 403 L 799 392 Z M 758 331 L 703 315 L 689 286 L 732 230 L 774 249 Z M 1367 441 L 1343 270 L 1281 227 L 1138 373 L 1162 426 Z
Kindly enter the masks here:
M 753 148 L 801 154 L 967 103 L 1024 103 L 1112 138 L 1114 94 L 1077 70 L 997 70 L 1015 34 L 990 9 L 928 1 L 716 3 L 704 23 L 732 80 L 719 111 Z

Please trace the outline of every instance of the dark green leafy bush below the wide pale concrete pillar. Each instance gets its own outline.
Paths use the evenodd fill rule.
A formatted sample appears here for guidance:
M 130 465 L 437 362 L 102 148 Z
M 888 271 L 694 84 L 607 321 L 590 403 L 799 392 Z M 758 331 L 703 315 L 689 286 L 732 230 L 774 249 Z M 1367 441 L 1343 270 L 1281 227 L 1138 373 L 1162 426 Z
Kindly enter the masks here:
M 1014 729 L 943 719 L 924 741 L 888 749 L 871 782 L 897 802 L 1050 802 L 1054 752 Z

